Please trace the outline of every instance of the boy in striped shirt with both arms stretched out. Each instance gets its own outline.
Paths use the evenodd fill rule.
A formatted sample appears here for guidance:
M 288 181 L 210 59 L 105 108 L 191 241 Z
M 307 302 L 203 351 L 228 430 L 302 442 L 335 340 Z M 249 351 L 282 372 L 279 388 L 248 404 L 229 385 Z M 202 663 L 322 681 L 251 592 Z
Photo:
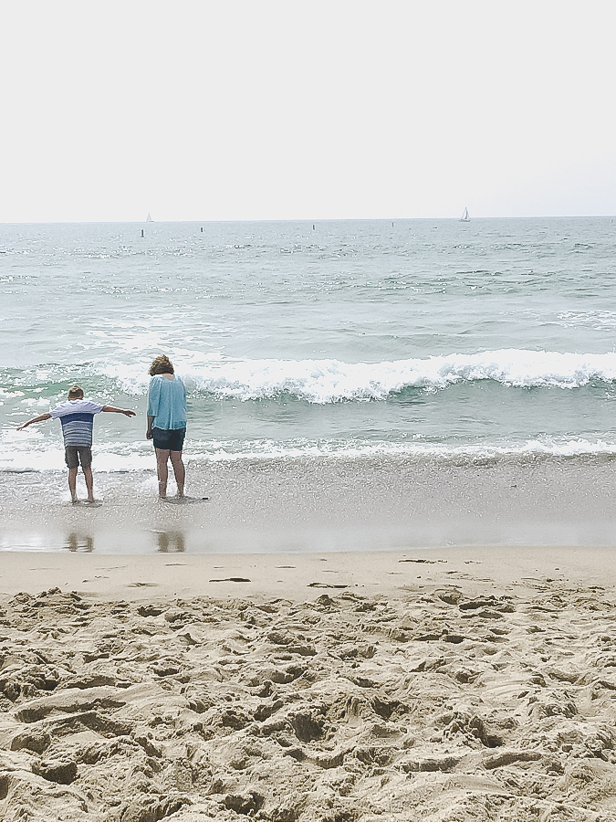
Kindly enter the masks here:
M 77 499 L 77 469 L 79 463 L 86 479 L 88 488 L 88 501 L 94 502 L 94 478 L 92 477 L 92 427 L 94 427 L 94 415 L 101 411 L 114 411 L 116 414 L 135 416 L 134 411 L 115 408 L 114 406 L 101 406 L 91 400 L 83 398 L 83 391 L 78 385 L 68 392 L 68 401 L 60 403 L 59 406 L 48 414 L 40 414 L 33 419 L 29 419 L 23 426 L 17 428 L 18 431 L 32 425 L 33 422 L 42 422 L 44 419 L 59 419 L 62 423 L 62 434 L 64 436 L 65 461 L 68 466 L 68 488 L 73 502 Z

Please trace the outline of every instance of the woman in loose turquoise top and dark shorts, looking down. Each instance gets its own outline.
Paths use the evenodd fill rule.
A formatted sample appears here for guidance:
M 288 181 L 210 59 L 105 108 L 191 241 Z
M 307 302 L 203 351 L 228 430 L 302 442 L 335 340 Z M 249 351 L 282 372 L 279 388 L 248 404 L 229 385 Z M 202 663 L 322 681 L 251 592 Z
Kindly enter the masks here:
M 158 495 L 167 499 L 167 460 L 171 459 L 178 486 L 178 497 L 184 495 L 186 470 L 182 448 L 186 436 L 186 389 L 180 377 L 173 374 L 168 357 L 156 357 L 150 366 L 148 391 L 148 430 L 146 439 L 153 440 L 158 472 Z

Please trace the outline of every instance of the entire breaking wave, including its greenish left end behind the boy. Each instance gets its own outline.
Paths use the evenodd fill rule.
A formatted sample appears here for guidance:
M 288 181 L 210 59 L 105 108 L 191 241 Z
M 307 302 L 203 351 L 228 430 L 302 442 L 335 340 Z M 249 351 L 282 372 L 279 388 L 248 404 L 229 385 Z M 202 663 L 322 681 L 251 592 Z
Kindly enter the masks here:
M 128 358 L 127 358 L 128 359 Z M 450 353 L 379 363 L 338 359 L 232 359 L 219 353 L 174 353 L 188 391 L 214 399 L 291 397 L 309 404 L 382 401 L 418 389 L 441 391 L 460 383 L 493 382 L 513 388 L 576 389 L 616 381 L 616 352 L 559 353 L 497 349 Z M 29 395 L 22 403 L 55 402 L 72 383 L 91 395 L 147 394 L 150 361 L 89 362 L 70 368 L 41 364 L 3 374 L 0 402 Z M 48 404 L 48 403 L 47 403 Z

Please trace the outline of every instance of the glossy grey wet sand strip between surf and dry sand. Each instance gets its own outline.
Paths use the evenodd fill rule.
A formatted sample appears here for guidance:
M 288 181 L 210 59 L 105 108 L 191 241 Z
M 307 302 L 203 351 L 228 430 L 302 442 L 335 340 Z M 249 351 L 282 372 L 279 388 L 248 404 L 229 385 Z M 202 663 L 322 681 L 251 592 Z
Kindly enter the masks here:
M 65 473 L 0 474 L 0 553 L 616 547 L 612 459 L 214 463 L 189 468 L 187 494 L 158 501 L 153 471 L 95 474 L 102 504 L 73 506 Z

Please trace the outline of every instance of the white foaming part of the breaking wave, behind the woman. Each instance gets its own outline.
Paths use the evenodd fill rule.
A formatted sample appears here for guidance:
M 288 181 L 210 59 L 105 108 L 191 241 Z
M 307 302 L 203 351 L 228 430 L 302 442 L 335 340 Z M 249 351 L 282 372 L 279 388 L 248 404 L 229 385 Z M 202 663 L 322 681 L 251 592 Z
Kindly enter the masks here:
M 451 353 L 381 363 L 321 360 L 228 360 L 191 362 L 181 371 L 189 391 L 240 401 L 290 395 L 325 405 L 384 400 L 409 388 L 441 390 L 461 382 L 493 381 L 517 388 L 572 389 L 616 380 L 616 353 L 558 353 L 499 349 Z M 179 364 L 181 365 L 181 364 Z M 147 390 L 140 366 L 110 365 L 104 373 L 129 394 Z

